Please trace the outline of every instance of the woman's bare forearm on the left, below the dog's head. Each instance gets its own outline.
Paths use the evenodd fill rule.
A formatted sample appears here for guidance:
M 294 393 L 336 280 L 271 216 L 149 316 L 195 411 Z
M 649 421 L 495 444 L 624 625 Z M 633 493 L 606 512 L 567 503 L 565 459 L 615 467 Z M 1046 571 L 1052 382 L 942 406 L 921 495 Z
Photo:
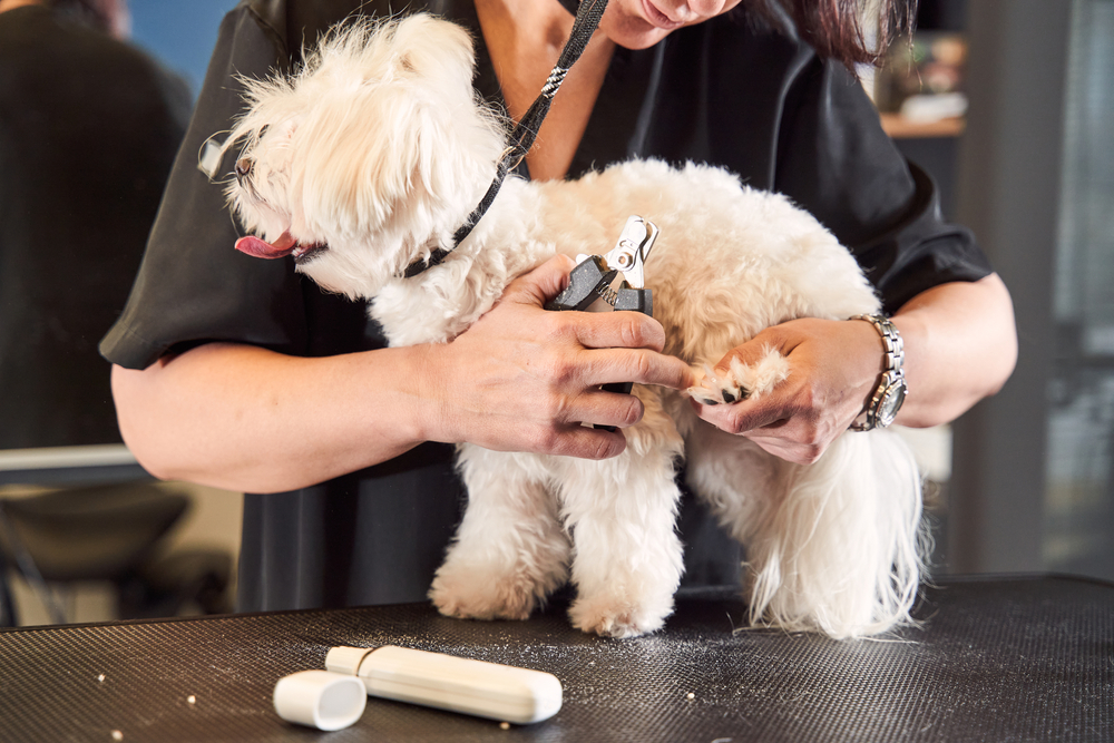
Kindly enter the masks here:
M 212 343 L 113 370 L 124 440 L 152 475 L 280 492 L 385 461 L 423 440 L 413 349 L 300 359 Z

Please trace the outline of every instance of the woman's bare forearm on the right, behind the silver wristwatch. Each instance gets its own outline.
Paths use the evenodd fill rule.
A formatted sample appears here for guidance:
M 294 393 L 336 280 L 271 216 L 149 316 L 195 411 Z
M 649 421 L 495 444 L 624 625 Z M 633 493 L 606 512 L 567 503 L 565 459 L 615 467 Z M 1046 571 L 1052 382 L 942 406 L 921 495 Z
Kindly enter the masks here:
M 893 315 L 893 324 L 906 345 L 902 426 L 954 420 L 1001 389 L 1017 362 L 1013 303 L 997 274 L 924 292 Z

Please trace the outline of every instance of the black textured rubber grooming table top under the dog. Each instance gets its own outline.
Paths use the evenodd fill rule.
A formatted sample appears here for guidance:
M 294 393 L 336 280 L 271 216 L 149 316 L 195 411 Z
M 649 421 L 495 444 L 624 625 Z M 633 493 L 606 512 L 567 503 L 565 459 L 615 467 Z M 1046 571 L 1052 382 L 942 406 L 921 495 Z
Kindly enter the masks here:
M 583 635 L 559 607 L 481 623 L 427 605 L 0 632 L 0 740 L 1114 741 L 1110 584 L 954 580 L 924 590 L 922 627 L 869 641 L 734 632 L 743 613 L 691 597 L 627 641 Z M 565 705 L 509 730 L 375 698 L 335 733 L 275 714 L 280 677 L 380 644 L 548 671 Z

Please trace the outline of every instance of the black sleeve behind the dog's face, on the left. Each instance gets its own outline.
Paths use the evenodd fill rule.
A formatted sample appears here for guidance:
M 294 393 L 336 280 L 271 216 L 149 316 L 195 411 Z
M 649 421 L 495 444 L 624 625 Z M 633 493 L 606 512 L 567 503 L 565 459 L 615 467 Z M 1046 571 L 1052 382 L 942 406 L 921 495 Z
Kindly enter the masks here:
M 223 187 L 198 153 L 242 108 L 237 76 L 286 66 L 285 43 L 246 3 L 221 25 L 189 128 L 178 151 L 127 305 L 100 343 L 109 361 L 144 369 L 172 348 L 237 341 L 297 353 L 306 344 L 300 281 L 290 261 L 237 253 Z M 218 173 L 231 170 L 234 153 Z M 218 176 L 219 178 L 219 176 Z

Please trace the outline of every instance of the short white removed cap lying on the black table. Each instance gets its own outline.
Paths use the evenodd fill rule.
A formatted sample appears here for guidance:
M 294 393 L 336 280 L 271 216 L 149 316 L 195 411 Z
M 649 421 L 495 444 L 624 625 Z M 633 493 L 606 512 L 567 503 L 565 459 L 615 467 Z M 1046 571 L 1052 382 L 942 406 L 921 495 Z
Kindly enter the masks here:
M 317 730 L 348 727 L 363 714 L 368 690 L 355 676 L 300 671 L 278 680 L 275 712 L 287 722 Z

